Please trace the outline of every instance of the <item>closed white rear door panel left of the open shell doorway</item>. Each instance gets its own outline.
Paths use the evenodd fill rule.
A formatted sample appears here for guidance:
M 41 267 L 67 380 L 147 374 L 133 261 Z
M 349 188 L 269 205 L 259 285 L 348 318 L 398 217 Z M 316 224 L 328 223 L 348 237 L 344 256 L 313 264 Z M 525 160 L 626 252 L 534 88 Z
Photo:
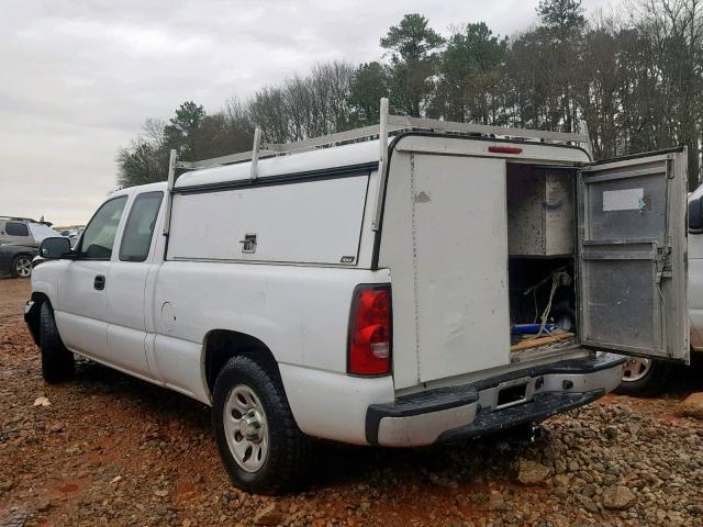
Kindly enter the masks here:
M 416 156 L 420 381 L 510 362 L 505 161 Z M 478 191 L 480 189 L 480 191 Z

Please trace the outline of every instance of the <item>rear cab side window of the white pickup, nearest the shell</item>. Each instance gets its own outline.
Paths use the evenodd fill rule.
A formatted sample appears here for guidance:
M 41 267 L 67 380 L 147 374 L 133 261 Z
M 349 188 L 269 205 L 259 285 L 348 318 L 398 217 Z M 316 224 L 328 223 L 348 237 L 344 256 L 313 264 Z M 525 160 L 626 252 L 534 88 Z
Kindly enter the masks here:
M 144 192 L 136 197 L 122 235 L 120 260 L 146 260 L 163 198 L 164 192 Z

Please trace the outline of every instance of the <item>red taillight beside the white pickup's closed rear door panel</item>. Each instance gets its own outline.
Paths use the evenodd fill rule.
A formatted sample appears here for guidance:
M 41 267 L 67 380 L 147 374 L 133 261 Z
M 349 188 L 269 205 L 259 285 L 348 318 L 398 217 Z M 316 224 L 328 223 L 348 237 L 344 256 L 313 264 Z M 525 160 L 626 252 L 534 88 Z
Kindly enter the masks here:
M 347 371 L 383 375 L 391 371 L 391 288 L 358 285 L 352 298 Z

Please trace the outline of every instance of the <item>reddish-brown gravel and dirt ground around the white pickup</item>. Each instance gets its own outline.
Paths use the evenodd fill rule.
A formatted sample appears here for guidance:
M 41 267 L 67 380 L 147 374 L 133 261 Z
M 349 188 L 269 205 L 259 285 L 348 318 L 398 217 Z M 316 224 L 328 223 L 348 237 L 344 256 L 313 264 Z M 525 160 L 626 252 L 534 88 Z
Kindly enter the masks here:
M 320 444 L 305 492 L 259 497 L 230 484 L 202 404 L 90 362 L 45 385 L 29 291 L 0 280 L 0 527 L 703 525 L 703 422 L 677 412 L 700 368 L 662 399 L 551 418 L 535 445 Z

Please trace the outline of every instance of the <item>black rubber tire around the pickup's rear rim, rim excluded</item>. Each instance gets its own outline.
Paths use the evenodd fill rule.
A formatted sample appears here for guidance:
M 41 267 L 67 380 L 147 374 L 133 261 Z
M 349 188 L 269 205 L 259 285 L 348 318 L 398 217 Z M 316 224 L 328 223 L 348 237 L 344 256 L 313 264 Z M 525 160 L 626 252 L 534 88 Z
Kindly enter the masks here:
M 265 411 L 268 452 L 263 466 L 253 472 L 237 462 L 225 430 L 225 407 L 238 386 L 252 390 Z M 215 381 L 212 424 L 224 467 L 239 489 L 257 494 L 280 494 L 302 483 L 310 439 L 298 428 L 277 374 L 249 357 L 230 359 Z

